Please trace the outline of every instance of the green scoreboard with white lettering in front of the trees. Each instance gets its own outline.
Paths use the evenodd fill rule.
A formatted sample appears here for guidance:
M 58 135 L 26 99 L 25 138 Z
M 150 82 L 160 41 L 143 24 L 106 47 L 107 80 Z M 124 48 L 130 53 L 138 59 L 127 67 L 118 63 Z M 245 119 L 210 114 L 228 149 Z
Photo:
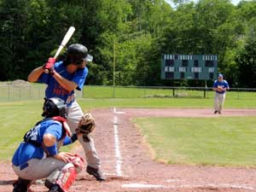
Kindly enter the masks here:
M 161 79 L 216 79 L 217 55 L 161 55 Z

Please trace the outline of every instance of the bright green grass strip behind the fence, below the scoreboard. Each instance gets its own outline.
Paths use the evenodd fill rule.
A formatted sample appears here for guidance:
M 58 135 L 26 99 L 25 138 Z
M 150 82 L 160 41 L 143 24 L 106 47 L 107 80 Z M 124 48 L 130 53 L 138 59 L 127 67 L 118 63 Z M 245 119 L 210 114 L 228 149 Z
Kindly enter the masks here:
M 186 98 L 207 98 L 213 99 L 214 91 L 207 90 L 187 90 L 179 88 L 173 90 L 172 88 L 161 87 L 115 87 L 113 86 L 91 86 L 86 85 L 83 90 L 84 98 L 172 98 L 172 97 L 186 97 Z M 256 92 L 249 91 L 228 91 L 227 97 L 232 100 L 248 100 L 253 101 Z

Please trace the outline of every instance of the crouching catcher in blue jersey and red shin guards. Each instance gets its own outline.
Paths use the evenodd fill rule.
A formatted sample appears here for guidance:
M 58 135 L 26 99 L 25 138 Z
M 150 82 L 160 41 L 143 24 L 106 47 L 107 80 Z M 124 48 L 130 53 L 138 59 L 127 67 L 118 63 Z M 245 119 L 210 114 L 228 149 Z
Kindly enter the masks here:
M 13 169 L 19 177 L 13 192 L 28 192 L 40 178 L 46 178 L 49 192 L 67 192 L 84 166 L 79 155 L 59 152 L 61 145 L 73 143 L 79 136 L 71 136 L 65 102 L 57 97 L 45 99 L 43 110 L 45 118 L 26 132 L 13 156 Z

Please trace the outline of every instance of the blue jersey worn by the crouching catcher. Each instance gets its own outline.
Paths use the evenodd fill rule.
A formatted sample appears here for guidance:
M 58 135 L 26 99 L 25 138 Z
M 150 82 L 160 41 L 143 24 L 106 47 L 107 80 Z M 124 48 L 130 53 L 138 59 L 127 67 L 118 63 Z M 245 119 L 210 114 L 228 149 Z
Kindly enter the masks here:
M 42 147 L 44 134 L 47 133 L 54 136 L 57 142 L 63 141 L 63 145 L 72 143 L 71 138 L 66 137 L 66 131 L 62 128 L 61 122 L 53 119 L 42 120 L 31 129 L 30 138 L 34 143 L 20 143 L 19 148 L 15 151 L 12 163 L 15 166 L 20 166 L 26 163 L 27 160 L 43 159 L 45 150 L 51 156 L 57 154 L 57 143 L 47 148 Z

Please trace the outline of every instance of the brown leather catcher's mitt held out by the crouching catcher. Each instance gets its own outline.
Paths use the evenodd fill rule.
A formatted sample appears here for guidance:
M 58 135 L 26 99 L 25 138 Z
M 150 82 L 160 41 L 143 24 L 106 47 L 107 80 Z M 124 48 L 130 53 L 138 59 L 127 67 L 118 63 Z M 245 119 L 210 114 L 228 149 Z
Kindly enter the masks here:
M 83 135 L 84 142 L 90 142 L 88 134 L 90 134 L 95 127 L 95 119 L 90 112 L 86 112 L 79 121 L 79 127 L 76 129 L 76 133 Z

